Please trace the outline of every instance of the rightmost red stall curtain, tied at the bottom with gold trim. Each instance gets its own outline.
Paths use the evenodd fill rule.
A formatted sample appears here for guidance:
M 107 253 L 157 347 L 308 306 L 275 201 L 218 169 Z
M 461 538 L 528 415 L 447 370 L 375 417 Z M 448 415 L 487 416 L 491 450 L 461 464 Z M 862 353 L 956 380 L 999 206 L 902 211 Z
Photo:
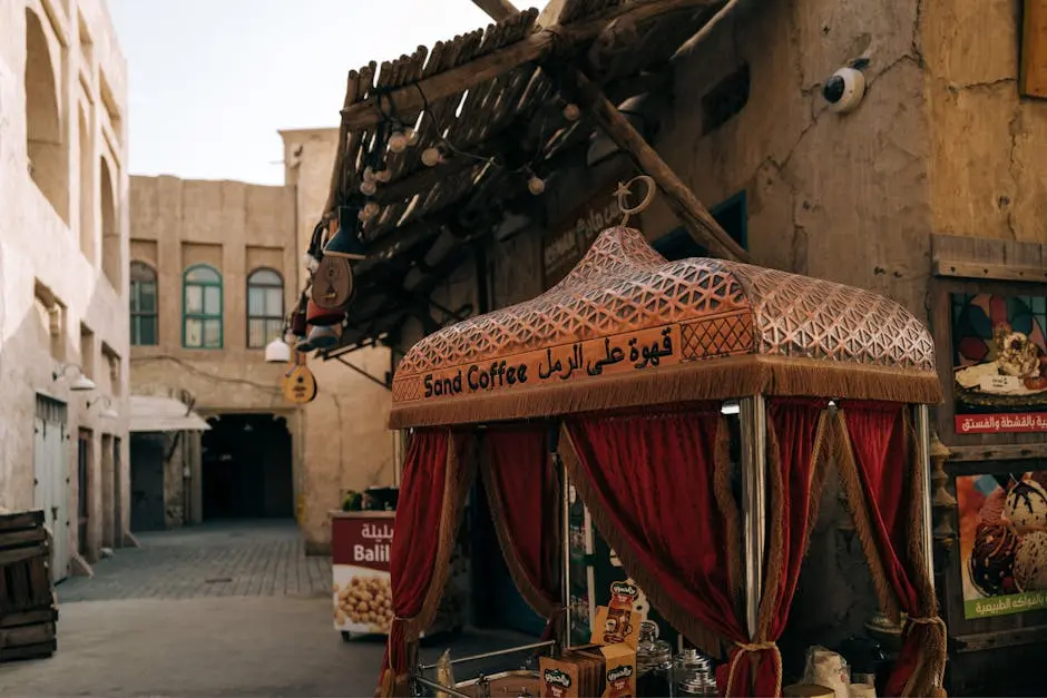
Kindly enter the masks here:
M 888 696 L 940 695 L 946 627 L 923 559 L 924 475 L 908 409 L 848 402 L 836 416 L 838 461 L 880 603 L 909 615 Z

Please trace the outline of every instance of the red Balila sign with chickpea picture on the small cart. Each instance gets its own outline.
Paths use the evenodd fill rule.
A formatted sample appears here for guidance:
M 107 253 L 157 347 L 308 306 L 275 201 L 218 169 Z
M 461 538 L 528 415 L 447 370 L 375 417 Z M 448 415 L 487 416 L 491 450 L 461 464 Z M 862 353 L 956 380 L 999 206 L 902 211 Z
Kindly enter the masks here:
M 393 518 L 381 513 L 337 515 L 331 527 L 335 630 L 389 632 L 393 618 L 389 573 Z

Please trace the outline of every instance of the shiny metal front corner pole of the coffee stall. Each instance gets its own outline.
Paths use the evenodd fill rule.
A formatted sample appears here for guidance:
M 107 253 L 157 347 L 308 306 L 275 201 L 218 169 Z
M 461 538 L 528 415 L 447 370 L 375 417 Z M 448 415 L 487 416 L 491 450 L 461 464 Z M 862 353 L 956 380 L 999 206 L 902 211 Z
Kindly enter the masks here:
M 750 638 L 756 635 L 766 551 L 767 429 L 765 406 L 763 395 L 741 401 L 745 620 Z

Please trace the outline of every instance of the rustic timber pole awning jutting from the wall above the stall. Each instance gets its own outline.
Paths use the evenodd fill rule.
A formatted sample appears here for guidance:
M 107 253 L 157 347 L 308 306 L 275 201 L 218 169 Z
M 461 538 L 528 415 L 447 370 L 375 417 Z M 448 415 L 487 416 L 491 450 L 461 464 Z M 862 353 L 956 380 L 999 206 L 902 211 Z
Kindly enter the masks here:
M 443 308 L 433 319 L 429 296 L 470 243 L 531 203 L 531 176 L 581 161 L 597 127 L 589 110 L 565 115 L 565 71 L 584 75 L 611 104 L 652 91 L 726 1 L 554 3 L 559 11 L 541 17 L 548 26 L 535 9 L 506 12 L 486 29 L 350 71 L 325 215 L 365 201 L 376 208 L 362 226 L 369 256 L 354 265 L 355 299 L 334 354 L 395 336 L 411 316 L 429 333 L 468 315 Z M 391 134 L 407 128 L 415 142 L 393 151 Z M 430 167 L 422 155 L 431 148 L 442 161 Z M 370 197 L 361 193 L 368 168 L 383 173 Z

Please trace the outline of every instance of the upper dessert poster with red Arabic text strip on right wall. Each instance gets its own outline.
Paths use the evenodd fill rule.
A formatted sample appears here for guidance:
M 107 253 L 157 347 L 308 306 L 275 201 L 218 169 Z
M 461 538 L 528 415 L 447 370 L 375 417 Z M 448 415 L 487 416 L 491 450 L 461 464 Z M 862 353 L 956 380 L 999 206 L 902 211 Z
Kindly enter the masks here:
M 956 431 L 1047 432 L 1047 296 L 952 294 Z

